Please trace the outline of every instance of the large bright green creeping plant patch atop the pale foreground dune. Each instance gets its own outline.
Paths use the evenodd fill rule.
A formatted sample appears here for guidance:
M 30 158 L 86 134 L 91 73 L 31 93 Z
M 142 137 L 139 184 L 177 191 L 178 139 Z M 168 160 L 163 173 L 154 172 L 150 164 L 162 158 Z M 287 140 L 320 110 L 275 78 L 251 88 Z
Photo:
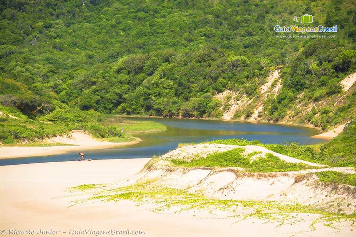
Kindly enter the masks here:
M 252 152 L 245 156 L 244 149 L 236 148 L 229 151 L 209 154 L 201 158 L 193 158 L 191 161 L 172 159 L 173 165 L 185 167 L 241 167 L 246 172 L 286 172 L 299 171 L 301 169 L 318 168 L 304 163 L 289 163 L 277 156 L 267 153 L 265 157 L 259 157 L 254 161 L 250 158 L 259 152 Z

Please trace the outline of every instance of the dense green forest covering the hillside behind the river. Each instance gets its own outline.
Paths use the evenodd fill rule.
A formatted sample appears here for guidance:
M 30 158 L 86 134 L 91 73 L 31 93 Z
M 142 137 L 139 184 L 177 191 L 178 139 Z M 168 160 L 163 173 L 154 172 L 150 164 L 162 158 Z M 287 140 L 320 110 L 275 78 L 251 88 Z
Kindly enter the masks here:
M 216 93 L 253 98 L 281 68 L 282 88 L 263 109 L 278 122 L 298 95 L 310 103 L 328 99 L 356 71 L 352 0 L 1 0 L 0 12 L 2 111 L 41 126 L 85 128 L 100 122 L 95 111 L 221 117 Z M 314 16 L 308 26 L 337 25 L 337 37 L 276 37 L 291 33 L 276 33 L 275 25 L 298 24 L 293 17 L 304 14 Z M 356 92 L 345 98 L 305 121 L 325 129 L 352 119 Z M 0 121 L 2 141 L 22 138 L 10 120 Z

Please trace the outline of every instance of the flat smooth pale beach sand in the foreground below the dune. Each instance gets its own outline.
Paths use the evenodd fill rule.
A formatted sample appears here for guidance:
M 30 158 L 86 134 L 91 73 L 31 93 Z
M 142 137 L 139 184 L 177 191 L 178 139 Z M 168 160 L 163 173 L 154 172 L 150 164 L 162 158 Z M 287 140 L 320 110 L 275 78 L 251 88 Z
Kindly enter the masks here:
M 305 236 L 315 214 L 298 214 L 305 221 L 277 227 L 277 223 L 248 218 L 236 222 L 229 213 L 204 210 L 182 214 L 157 214 L 131 201 L 93 203 L 67 208 L 73 199 L 63 198 L 66 187 L 79 184 L 110 183 L 127 179 L 142 169 L 145 159 L 93 160 L 90 162 L 53 162 L 0 167 L 0 229 L 40 231 L 57 230 L 57 236 L 75 230 L 141 230 L 141 236 Z M 236 222 L 236 223 L 235 223 Z M 356 229 L 340 224 L 341 231 L 316 225 L 308 236 L 353 236 Z M 350 231 L 353 229 L 353 232 Z M 67 232 L 67 233 L 63 233 Z M 3 235 L 9 236 L 9 235 Z M 32 235 L 33 236 L 33 235 Z M 79 235 L 78 235 L 79 236 Z M 94 236 L 94 235 L 80 235 Z M 100 235 L 108 236 L 108 235 Z M 120 235 L 111 235 L 120 236 Z

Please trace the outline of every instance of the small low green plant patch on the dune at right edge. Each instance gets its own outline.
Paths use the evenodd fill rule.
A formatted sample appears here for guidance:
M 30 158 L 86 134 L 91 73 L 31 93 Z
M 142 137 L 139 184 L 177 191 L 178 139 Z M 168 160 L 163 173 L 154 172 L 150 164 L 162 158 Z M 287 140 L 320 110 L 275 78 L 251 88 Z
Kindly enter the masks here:
M 356 186 L 356 174 L 344 174 L 337 171 L 316 172 L 321 182 L 341 183 Z

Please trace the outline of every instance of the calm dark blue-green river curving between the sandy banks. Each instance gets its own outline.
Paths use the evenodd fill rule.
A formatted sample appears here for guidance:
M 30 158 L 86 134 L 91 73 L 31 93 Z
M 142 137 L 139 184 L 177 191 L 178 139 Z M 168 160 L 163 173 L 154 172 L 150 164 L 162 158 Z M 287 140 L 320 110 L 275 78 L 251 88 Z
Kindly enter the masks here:
M 132 120 L 152 120 L 165 124 L 168 130 L 158 133 L 137 134 L 143 141 L 136 145 L 119 148 L 82 151 L 87 159 L 147 158 L 162 155 L 173 150 L 179 143 L 212 141 L 216 139 L 244 138 L 262 143 L 299 142 L 316 144 L 323 140 L 309 138 L 318 132 L 297 126 L 277 124 L 255 124 L 193 119 L 132 118 Z M 0 160 L 0 165 L 16 165 L 39 162 L 73 161 L 78 159 L 78 151 L 62 155 L 12 158 Z

